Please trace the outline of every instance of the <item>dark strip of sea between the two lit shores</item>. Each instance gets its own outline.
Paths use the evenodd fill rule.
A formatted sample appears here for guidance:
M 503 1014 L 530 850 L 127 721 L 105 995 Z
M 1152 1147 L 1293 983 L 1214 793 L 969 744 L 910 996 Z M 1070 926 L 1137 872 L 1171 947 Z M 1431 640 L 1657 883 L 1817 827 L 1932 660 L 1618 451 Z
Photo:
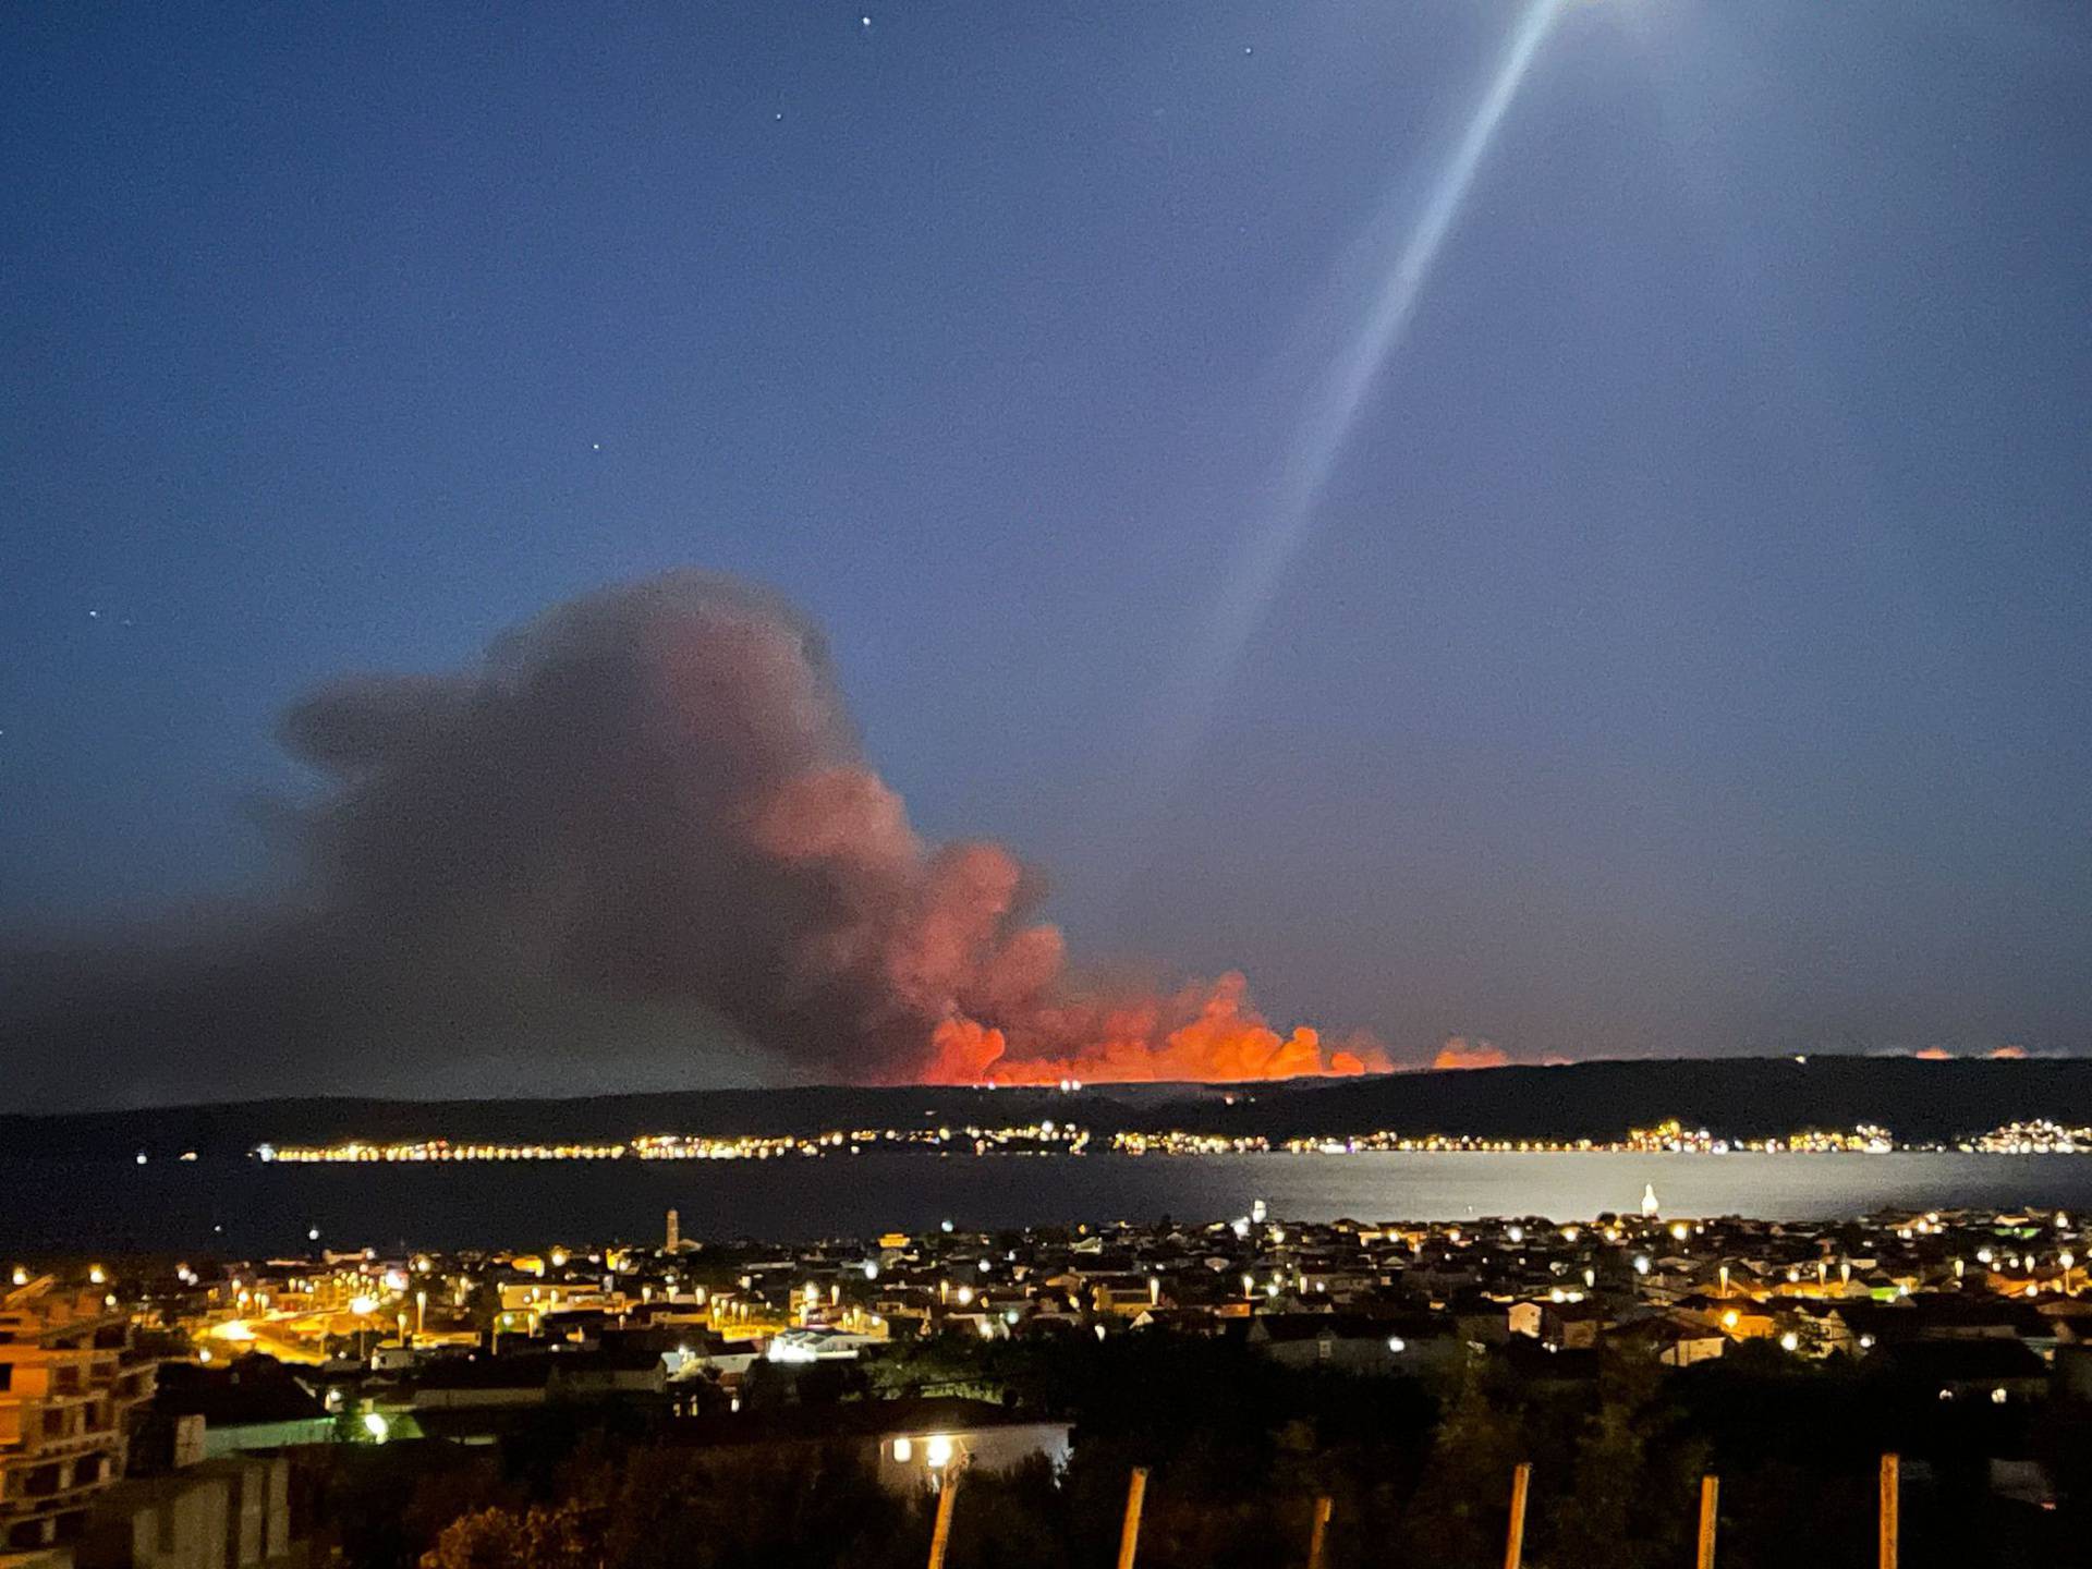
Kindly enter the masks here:
M 770 1161 L 264 1165 L 0 1155 L 0 1264 L 46 1253 L 262 1257 L 320 1247 L 644 1243 L 1274 1220 L 1592 1220 L 1655 1186 L 1667 1215 L 1879 1209 L 2092 1213 L 2084 1155 L 828 1155 Z

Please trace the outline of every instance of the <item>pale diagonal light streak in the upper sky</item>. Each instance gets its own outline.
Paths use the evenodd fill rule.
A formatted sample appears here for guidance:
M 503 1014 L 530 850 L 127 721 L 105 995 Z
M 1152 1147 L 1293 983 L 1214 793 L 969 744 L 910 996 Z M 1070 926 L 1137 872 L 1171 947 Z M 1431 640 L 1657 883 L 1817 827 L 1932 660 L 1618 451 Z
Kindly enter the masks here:
M 1337 458 L 1358 425 L 1374 381 L 1416 316 L 1431 266 L 1460 218 L 1490 142 L 1496 138 L 1496 130 L 1517 98 L 1519 84 L 1525 82 L 1525 73 L 1563 4 L 1565 0 L 1531 0 L 1525 8 L 1481 103 L 1475 105 L 1446 167 L 1431 184 L 1431 195 L 1416 215 L 1416 224 L 1400 241 L 1400 247 L 1393 247 L 1389 266 L 1366 303 L 1364 318 L 1318 379 L 1278 471 L 1270 515 L 1251 529 L 1222 590 L 1220 605 L 1205 619 L 1205 636 L 1199 640 L 1192 667 L 1186 672 L 1186 701 L 1165 732 L 1167 743 L 1161 759 L 1165 778 L 1176 774 L 1203 741 L 1226 697 L 1243 649 L 1264 619 L 1287 567 L 1305 544 L 1308 527 Z

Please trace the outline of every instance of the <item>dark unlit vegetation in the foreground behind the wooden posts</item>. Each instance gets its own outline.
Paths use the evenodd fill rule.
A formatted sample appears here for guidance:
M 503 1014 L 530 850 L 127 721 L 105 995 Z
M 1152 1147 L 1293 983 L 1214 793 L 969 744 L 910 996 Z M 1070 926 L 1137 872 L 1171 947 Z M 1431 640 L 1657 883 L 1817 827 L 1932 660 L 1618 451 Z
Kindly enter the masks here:
M 1335 1500 L 1331 1569 L 1494 1569 L 1517 1460 L 1533 1462 L 1536 1569 L 1690 1563 L 1709 1469 L 1722 1475 L 1724 1569 L 1791 1563 L 1797 1546 L 1820 1563 L 1872 1561 L 1881 1429 L 1910 1414 L 1883 1410 L 1854 1372 L 1784 1356 L 1686 1372 L 1609 1358 L 1596 1377 L 1513 1385 L 1492 1368 L 1431 1395 L 1400 1379 L 1289 1372 L 1207 1339 L 946 1337 L 847 1377 L 770 1381 L 761 1404 L 967 1387 L 1073 1420 L 1063 1475 L 1036 1464 L 962 1479 L 952 1569 L 1111 1563 L 1134 1464 L 1151 1469 L 1142 1569 L 1297 1565 L 1322 1494 Z M 757 1406 L 749 1414 L 759 1420 Z M 1902 1429 L 1914 1456 L 1904 1563 L 2063 1561 L 2071 1519 L 1996 1504 L 1956 1427 L 1927 1416 Z M 2023 1439 L 2086 1452 L 2069 1408 Z M 619 1433 L 575 1420 L 540 1425 L 498 1460 L 462 1454 L 431 1469 L 427 1456 L 402 1464 L 400 1446 L 377 1452 L 393 1475 L 341 1496 L 345 1556 L 370 1569 L 885 1569 L 920 1565 L 929 1542 L 933 1500 L 883 1492 L 864 1448 L 695 1448 L 665 1420 Z

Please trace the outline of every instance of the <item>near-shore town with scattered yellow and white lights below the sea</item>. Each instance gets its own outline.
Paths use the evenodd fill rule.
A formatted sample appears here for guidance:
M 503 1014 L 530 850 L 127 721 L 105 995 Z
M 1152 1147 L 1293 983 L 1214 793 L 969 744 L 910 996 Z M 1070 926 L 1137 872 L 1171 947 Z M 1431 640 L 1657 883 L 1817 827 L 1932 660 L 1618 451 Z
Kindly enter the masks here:
M 912 1496 L 958 1469 L 1065 1469 L 1086 1429 L 1052 1370 L 1186 1343 L 1439 1404 L 1483 1379 L 1594 1391 L 1623 1362 L 1818 1370 L 1981 1435 L 1985 1487 L 2052 1510 L 2061 1479 L 2013 1435 L 2092 1402 L 2088 1270 L 2092 1236 L 2061 1211 L 1797 1224 L 1672 1215 L 1655 1190 L 1575 1224 L 1299 1224 L 1257 1201 L 787 1247 L 686 1238 L 667 1211 L 646 1243 L 21 1259 L 0 1297 L 0 1548 L 100 1569 L 138 1531 L 236 1533 L 249 1508 L 266 1550 L 213 1540 L 184 1563 L 291 1561 L 312 1456 L 479 1450 L 577 1414 L 722 1454 L 841 1441 Z

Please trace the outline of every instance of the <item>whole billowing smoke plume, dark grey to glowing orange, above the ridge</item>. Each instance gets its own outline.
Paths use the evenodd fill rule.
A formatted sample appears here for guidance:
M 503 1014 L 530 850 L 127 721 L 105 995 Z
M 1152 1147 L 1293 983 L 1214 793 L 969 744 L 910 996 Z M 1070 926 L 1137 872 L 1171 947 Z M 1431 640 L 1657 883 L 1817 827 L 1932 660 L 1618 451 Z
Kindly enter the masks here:
M 565 605 L 473 672 L 337 682 L 282 743 L 328 787 L 285 810 L 295 897 L 207 941 L 10 967 L 8 1038 L 295 1061 L 724 1021 L 831 1082 L 1387 1067 L 1370 1042 L 1272 1029 L 1238 975 L 1157 996 L 1071 979 L 1040 881 L 996 843 L 925 843 L 820 632 L 728 577 Z

